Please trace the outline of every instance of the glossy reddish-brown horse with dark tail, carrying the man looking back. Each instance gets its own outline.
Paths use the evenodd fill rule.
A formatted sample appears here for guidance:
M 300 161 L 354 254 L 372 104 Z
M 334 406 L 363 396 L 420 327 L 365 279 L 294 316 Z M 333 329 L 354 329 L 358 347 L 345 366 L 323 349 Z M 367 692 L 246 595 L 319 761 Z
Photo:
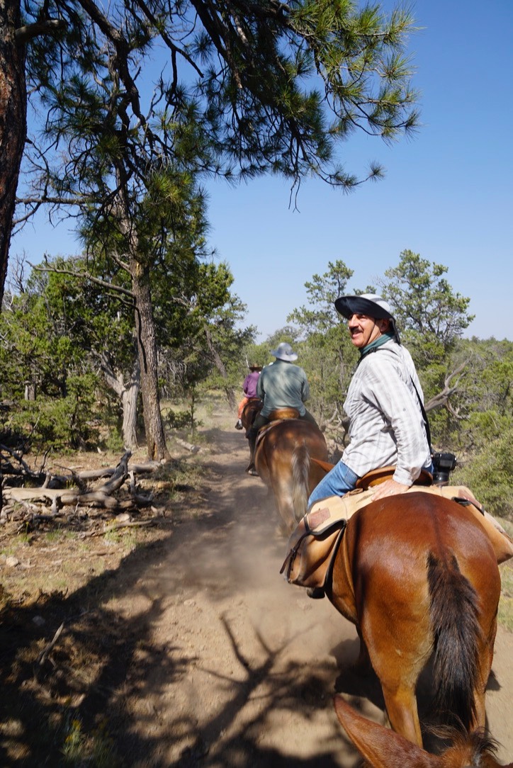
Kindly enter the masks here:
M 349 518 L 326 595 L 356 624 L 397 733 L 422 746 L 415 687 L 430 657 L 439 710 L 484 727 L 500 591 L 488 537 L 451 499 L 409 492 Z

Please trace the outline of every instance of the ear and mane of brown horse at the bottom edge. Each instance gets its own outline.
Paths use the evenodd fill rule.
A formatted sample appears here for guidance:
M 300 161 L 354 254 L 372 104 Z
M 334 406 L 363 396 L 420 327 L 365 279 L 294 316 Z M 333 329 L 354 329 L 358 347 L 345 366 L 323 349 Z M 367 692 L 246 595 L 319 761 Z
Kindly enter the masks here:
M 453 746 L 436 756 L 414 746 L 399 733 L 362 717 L 342 697 L 336 696 L 334 703 L 347 735 L 372 768 L 499 768 L 495 744 L 482 730 L 447 733 L 449 738 L 452 735 Z M 513 768 L 513 763 L 505 768 Z

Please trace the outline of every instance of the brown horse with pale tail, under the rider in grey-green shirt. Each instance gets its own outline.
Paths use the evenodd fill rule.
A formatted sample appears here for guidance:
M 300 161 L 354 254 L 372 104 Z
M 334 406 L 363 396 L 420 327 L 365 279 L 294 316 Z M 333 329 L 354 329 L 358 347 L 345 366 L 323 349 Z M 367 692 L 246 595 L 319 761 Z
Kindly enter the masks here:
M 273 492 L 283 533 L 290 534 L 306 512 L 308 497 L 326 475 L 313 458 L 328 459 L 323 432 L 305 419 L 283 419 L 264 427 L 255 467 Z

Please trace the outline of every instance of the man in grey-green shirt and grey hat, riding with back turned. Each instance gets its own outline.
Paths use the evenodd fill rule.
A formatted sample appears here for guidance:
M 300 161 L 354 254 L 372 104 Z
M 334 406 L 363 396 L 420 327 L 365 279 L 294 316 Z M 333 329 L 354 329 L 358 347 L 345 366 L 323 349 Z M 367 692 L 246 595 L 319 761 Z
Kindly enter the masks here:
M 304 403 L 309 399 L 309 385 L 306 373 L 300 366 L 294 366 L 297 355 L 290 344 L 281 342 L 276 349 L 271 350 L 276 360 L 265 366 L 257 382 L 257 396 L 263 400 L 263 408 L 253 422 L 247 437 L 250 442 L 252 461 L 247 471 L 256 475 L 253 457 L 259 429 L 270 421 L 273 411 L 280 409 L 295 409 L 299 419 L 306 419 L 317 426 L 313 415 L 309 413 Z

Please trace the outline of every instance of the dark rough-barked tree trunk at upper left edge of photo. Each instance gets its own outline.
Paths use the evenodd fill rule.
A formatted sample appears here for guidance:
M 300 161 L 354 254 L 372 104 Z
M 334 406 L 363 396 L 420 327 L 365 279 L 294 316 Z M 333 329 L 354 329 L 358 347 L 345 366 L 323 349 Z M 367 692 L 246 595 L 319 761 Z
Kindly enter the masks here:
M 16 45 L 19 0 L 0 0 L 0 306 L 11 242 L 16 190 L 27 136 L 25 45 Z

